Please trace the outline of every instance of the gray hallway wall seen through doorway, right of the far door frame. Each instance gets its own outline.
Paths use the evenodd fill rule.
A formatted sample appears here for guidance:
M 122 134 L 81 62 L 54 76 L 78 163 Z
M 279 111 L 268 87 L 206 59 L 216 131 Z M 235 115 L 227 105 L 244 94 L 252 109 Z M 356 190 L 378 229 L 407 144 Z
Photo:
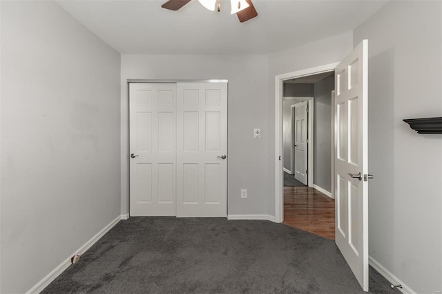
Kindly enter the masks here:
M 314 184 L 332 191 L 332 90 L 334 75 L 314 84 Z

